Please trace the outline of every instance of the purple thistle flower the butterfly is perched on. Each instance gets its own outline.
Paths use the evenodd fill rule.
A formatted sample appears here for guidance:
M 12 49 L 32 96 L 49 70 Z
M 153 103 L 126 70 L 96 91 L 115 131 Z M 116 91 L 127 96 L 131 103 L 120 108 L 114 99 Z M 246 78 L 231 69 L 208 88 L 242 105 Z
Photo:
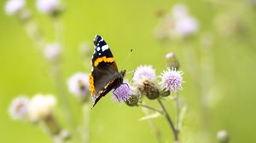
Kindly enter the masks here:
M 123 102 L 129 100 L 132 94 L 132 89 L 128 82 L 124 82 L 117 89 L 113 90 L 113 100 Z

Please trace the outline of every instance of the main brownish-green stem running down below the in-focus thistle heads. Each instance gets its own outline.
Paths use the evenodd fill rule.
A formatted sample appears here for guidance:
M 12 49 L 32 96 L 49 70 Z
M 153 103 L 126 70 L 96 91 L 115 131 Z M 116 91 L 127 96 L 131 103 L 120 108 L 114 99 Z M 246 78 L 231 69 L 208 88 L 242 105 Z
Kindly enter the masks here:
M 169 113 L 166 111 L 166 107 L 164 106 L 164 104 L 162 103 L 162 101 L 160 99 L 158 99 L 157 101 L 160 104 L 161 108 L 163 109 L 163 112 L 164 112 L 164 115 L 166 117 L 166 120 L 169 123 L 170 128 L 172 129 L 174 140 L 178 141 L 177 129 L 175 129 L 174 123 L 172 122 L 172 119 L 171 119 Z

